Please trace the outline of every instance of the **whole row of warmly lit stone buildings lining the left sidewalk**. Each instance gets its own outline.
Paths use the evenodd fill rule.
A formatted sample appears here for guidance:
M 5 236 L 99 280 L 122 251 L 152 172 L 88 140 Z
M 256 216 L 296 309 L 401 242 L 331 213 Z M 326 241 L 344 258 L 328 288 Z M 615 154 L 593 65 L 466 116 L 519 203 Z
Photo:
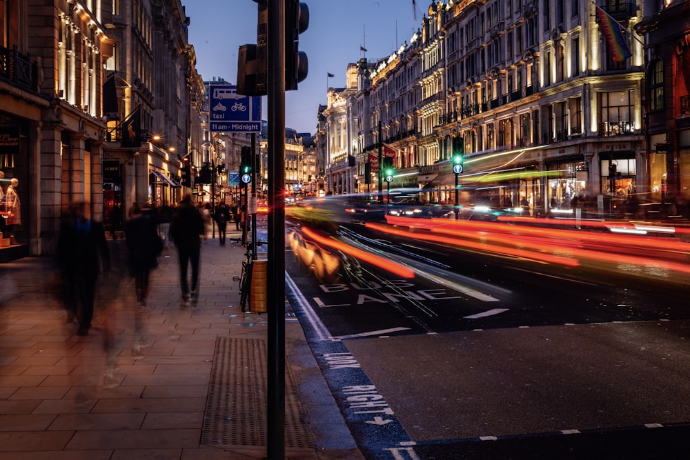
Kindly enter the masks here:
M 204 99 L 187 25 L 179 0 L 1 2 L 0 260 L 54 254 L 70 203 L 112 224 L 179 197 Z

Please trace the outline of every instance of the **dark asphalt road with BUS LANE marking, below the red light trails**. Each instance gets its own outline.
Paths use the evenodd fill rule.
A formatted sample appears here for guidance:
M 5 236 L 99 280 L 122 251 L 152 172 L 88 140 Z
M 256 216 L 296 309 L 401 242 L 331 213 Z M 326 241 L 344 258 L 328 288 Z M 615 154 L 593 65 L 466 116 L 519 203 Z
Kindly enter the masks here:
M 330 275 L 286 269 L 368 458 L 687 458 L 687 286 L 380 243 L 406 279 L 324 244 Z

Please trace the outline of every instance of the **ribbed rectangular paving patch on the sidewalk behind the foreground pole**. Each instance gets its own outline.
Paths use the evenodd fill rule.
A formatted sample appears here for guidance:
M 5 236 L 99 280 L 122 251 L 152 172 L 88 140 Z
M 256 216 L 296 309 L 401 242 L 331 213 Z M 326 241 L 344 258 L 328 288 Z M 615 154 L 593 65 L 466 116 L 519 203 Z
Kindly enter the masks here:
M 216 340 L 202 444 L 266 446 L 266 368 L 265 340 Z M 285 386 L 286 448 L 313 448 L 290 372 Z

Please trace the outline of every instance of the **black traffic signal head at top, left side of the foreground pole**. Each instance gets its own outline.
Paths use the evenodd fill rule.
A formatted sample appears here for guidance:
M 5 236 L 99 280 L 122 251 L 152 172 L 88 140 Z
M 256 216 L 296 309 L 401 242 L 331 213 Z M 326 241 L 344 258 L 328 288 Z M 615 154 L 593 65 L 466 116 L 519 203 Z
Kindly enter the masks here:
M 237 94 L 265 96 L 268 94 L 268 0 L 254 0 L 259 4 L 257 43 L 242 45 L 237 53 Z

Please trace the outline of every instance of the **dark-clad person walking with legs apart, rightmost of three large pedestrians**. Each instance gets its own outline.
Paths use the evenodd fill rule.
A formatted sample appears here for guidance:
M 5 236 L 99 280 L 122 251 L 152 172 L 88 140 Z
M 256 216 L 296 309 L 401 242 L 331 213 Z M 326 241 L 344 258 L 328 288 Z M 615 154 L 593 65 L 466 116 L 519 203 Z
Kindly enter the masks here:
M 170 236 L 177 248 L 177 258 L 179 259 L 182 306 L 188 306 L 190 300 L 196 303 L 199 296 L 199 253 L 201 252 L 203 234 L 204 217 L 192 203 L 192 196 L 185 194 L 170 221 Z M 187 279 L 189 265 L 192 266 L 191 291 Z

